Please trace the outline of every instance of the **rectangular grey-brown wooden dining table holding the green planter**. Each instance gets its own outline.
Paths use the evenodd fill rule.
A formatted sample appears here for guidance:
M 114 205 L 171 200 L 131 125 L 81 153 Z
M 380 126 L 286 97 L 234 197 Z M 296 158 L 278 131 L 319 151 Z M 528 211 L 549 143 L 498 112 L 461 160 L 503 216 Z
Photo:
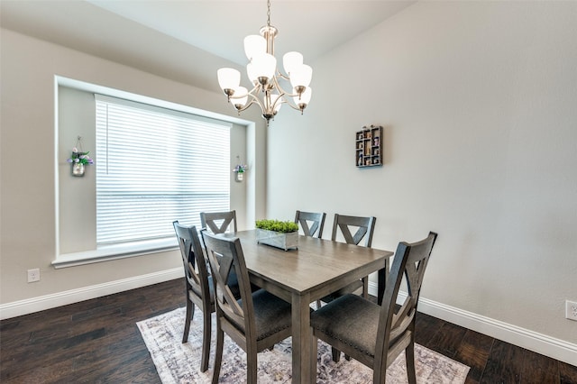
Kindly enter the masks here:
M 241 240 L 252 284 L 291 303 L 292 382 L 315 383 L 310 304 L 372 272 L 378 275 L 380 303 L 393 252 L 303 235 L 296 249 L 285 251 L 259 243 L 257 230 L 230 235 Z

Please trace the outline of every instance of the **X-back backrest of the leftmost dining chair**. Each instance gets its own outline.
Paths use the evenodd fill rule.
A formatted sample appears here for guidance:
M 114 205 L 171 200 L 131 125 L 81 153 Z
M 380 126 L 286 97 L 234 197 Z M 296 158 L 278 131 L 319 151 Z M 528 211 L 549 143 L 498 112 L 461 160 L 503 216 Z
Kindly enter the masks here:
M 206 297 L 210 301 L 210 288 L 208 287 L 208 269 L 206 268 L 205 256 L 200 244 L 196 226 L 185 226 L 178 221 L 172 223 L 174 232 L 179 240 L 180 255 L 184 265 L 184 273 L 187 279 L 187 288 L 194 292 L 197 297 Z

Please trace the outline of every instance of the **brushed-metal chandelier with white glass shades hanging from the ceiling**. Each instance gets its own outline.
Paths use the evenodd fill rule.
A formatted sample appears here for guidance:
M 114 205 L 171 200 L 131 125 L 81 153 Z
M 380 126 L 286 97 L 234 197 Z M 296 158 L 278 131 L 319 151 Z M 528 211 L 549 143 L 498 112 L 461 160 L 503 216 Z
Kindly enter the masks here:
M 270 0 L 267 1 L 267 8 L 267 24 L 261 28 L 261 34 L 244 38 L 244 53 L 249 59 L 246 72 L 252 89 L 249 91 L 240 87 L 241 73 L 236 69 L 221 68 L 217 75 L 224 95 L 239 114 L 257 104 L 261 106 L 262 117 L 269 125 L 270 119 L 274 118 L 280 106 L 285 103 L 303 113 L 313 92 L 311 87 L 308 87 L 313 69 L 303 64 L 303 55 L 295 51 L 283 56 L 285 74 L 277 69 L 274 39 L 278 31 L 270 25 Z M 288 84 L 286 87 L 290 86 L 290 92 L 280 87 L 280 80 Z

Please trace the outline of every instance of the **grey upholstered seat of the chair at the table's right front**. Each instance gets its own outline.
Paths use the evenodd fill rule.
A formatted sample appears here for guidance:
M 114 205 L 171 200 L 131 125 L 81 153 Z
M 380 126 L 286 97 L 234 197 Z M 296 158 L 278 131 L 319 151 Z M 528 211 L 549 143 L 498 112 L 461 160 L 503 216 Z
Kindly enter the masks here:
M 380 309 L 380 306 L 363 297 L 347 294 L 336 298 L 330 306 L 313 312 L 310 325 L 374 357 Z

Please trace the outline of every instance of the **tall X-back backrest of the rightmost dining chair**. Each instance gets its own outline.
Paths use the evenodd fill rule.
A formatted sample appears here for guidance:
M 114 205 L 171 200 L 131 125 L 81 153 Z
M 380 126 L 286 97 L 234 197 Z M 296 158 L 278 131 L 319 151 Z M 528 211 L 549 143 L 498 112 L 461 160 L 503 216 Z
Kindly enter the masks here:
M 436 233 L 430 232 L 420 242 L 398 243 L 380 308 L 374 370 L 385 370 L 408 343 L 414 342 L 418 297 L 436 237 Z M 407 298 L 396 310 L 403 276 L 408 288 Z

